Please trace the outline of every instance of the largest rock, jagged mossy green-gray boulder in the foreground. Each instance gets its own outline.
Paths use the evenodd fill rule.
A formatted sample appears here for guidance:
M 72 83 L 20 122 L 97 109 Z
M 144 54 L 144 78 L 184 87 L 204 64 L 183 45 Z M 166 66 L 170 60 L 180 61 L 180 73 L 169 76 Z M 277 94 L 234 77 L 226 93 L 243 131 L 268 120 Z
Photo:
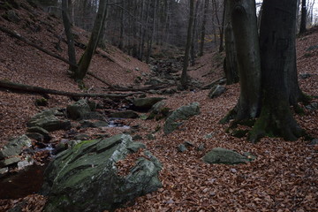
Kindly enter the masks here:
M 49 194 L 44 211 L 103 211 L 122 207 L 162 186 L 161 164 L 146 149 L 132 169 L 118 175 L 117 162 L 140 148 L 125 134 L 86 140 L 57 155 L 45 170 L 42 193 Z

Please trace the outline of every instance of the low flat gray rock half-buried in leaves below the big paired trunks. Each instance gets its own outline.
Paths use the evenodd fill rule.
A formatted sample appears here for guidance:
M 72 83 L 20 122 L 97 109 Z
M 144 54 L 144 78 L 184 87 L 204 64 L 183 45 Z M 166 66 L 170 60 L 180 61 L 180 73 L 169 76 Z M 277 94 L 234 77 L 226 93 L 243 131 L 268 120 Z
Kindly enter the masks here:
M 226 148 L 214 148 L 203 157 L 206 163 L 239 164 L 249 162 L 248 158 Z

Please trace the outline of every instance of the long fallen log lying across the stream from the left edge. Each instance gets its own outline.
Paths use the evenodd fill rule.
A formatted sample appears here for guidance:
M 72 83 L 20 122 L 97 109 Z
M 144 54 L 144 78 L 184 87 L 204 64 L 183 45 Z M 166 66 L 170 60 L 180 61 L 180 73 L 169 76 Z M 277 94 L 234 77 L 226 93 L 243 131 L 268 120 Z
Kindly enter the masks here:
M 7 80 L 0 80 L 0 88 L 18 90 L 28 93 L 37 93 L 45 95 L 64 95 L 70 97 L 102 97 L 102 98 L 125 98 L 131 95 L 139 95 L 140 92 L 134 92 L 129 94 L 85 94 L 85 93 L 72 93 L 66 91 L 58 91 L 53 89 L 48 89 L 44 87 L 34 87 L 20 83 L 14 83 Z

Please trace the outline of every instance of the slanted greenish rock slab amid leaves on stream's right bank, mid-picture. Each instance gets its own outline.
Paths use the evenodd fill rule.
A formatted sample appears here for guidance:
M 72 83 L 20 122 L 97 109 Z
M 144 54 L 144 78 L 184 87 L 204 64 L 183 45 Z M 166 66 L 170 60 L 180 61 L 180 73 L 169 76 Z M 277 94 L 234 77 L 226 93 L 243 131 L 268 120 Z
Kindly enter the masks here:
M 169 134 L 173 132 L 182 123 L 179 120 L 186 120 L 189 117 L 200 114 L 200 104 L 198 102 L 193 102 L 189 105 L 182 106 L 177 110 L 174 110 L 171 115 L 167 118 L 163 125 L 163 132 Z

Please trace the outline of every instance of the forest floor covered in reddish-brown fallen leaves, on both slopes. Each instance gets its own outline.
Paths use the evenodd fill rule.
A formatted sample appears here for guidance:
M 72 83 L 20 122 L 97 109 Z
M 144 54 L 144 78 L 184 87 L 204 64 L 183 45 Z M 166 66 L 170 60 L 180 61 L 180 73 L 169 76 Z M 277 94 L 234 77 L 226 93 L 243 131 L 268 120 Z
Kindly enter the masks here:
M 65 42 L 61 50 L 55 48 L 63 26 L 56 19 L 40 10 L 13 9 L 19 14 L 14 23 L 0 16 L 0 24 L 16 31 L 30 41 L 67 57 Z M 0 10 L 3 14 L 4 11 Z M 87 42 L 89 34 L 77 29 L 79 41 Z M 299 85 L 307 95 L 318 96 L 318 28 L 309 30 L 297 40 L 297 63 Z M 0 79 L 27 85 L 69 91 L 83 92 L 67 76 L 67 64 L 45 55 L 24 42 L 0 32 Z M 309 49 L 310 48 L 310 49 Z M 148 64 L 125 55 L 108 45 L 103 52 L 111 57 L 95 55 L 90 72 L 111 85 L 133 86 L 137 77 L 151 76 Z M 102 50 L 101 50 L 102 51 Z M 83 53 L 77 48 L 77 57 Z M 207 84 L 223 76 L 221 55 L 207 53 L 198 58 L 189 74 Z M 204 77 L 203 77 L 204 76 Z M 107 86 L 87 76 L 88 92 L 101 93 Z M 191 117 L 182 128 L 164 135 L 160 130 L 155 140 L 148 140 L 147 134 L 163 126 L 163 120 L 127 119 L 126 125 L 142 125 L 140 135 L 149 151 L 163 163 L 160 180 L 163 187 L 154 193 L 138 198 L 129 208 L 117 211 L 318 211 L 318 146 L 309 145 L 310 140 L 284 141 L 279 138 L 263 138 L 257 144 L 225 133 L 229 125 L 220 125 L 219 120 L 231 110 L 239 98 L 239 84 L 226 86 L 226 92 L 215 98 L 208 98 L 208 90 L 195 89 L 164 95 L 167 106 L 174 110 L 190 102 L 200 102 L 201 114 Z M 153 96 L 147 94 L 148 96 Z M 0 89 L 0 148 L 10 137 L 26 132 L 27 120 L 37 112 L 53 107 L 64 107 L 73 102 L 65 96 L 49 95 L 49 105 L 34 104 L 42 95 L 24 94 Z M 314 98 L 312 102 L 318 102 Z M 313 138 L 318 138 L 318 110 L 300 107 L 304 115 L 295 114 L 299 125 Z M 110 129 L 111 134 L 123 133 L 125 129 Z M 98 132 L 85 132 L 98 133 Z M 105 133 L 105 132 L 104 132 Z M 206 135 L 210 135 L 207 137 Z M 53 141 L 61 140 L 62 132 L 53 134 Z M 194 147 L 178 152 L 178 145 L 190 141 Z M 195 147 L 204 144 L 203 151 Z M 203 163 L 201 157 L 212 148 L 229 148 L 239 153 L 249 152 L 257 156 L 252 163 L 229 166 Z M 1 189 L 1 188 L 0 188 Z M 19 199 L 0 200 L 0 211 L 6 211 L 24 201 L 23 211 L 41 211 L 46 198 L 29 194 Z

